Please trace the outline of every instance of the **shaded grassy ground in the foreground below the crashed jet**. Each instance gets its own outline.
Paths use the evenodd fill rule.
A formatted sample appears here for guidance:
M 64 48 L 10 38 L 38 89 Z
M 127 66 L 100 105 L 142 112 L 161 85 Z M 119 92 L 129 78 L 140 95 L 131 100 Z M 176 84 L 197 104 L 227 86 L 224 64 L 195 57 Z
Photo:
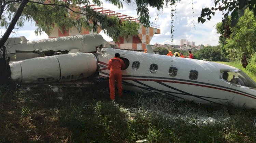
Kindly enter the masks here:
M 0 87 L 0 142 L 255 142 L 256 111 L 157 93 Z

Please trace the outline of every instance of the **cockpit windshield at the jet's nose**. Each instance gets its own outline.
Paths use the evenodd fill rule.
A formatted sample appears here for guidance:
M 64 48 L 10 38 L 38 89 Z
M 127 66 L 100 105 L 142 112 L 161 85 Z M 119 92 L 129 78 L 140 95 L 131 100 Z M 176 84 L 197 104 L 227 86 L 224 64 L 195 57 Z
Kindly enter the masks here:
M 230 84 L 235 84 L 239 86 L 256 88 L 256 83 L 241 71 L 222 71 L 221 78 Z

